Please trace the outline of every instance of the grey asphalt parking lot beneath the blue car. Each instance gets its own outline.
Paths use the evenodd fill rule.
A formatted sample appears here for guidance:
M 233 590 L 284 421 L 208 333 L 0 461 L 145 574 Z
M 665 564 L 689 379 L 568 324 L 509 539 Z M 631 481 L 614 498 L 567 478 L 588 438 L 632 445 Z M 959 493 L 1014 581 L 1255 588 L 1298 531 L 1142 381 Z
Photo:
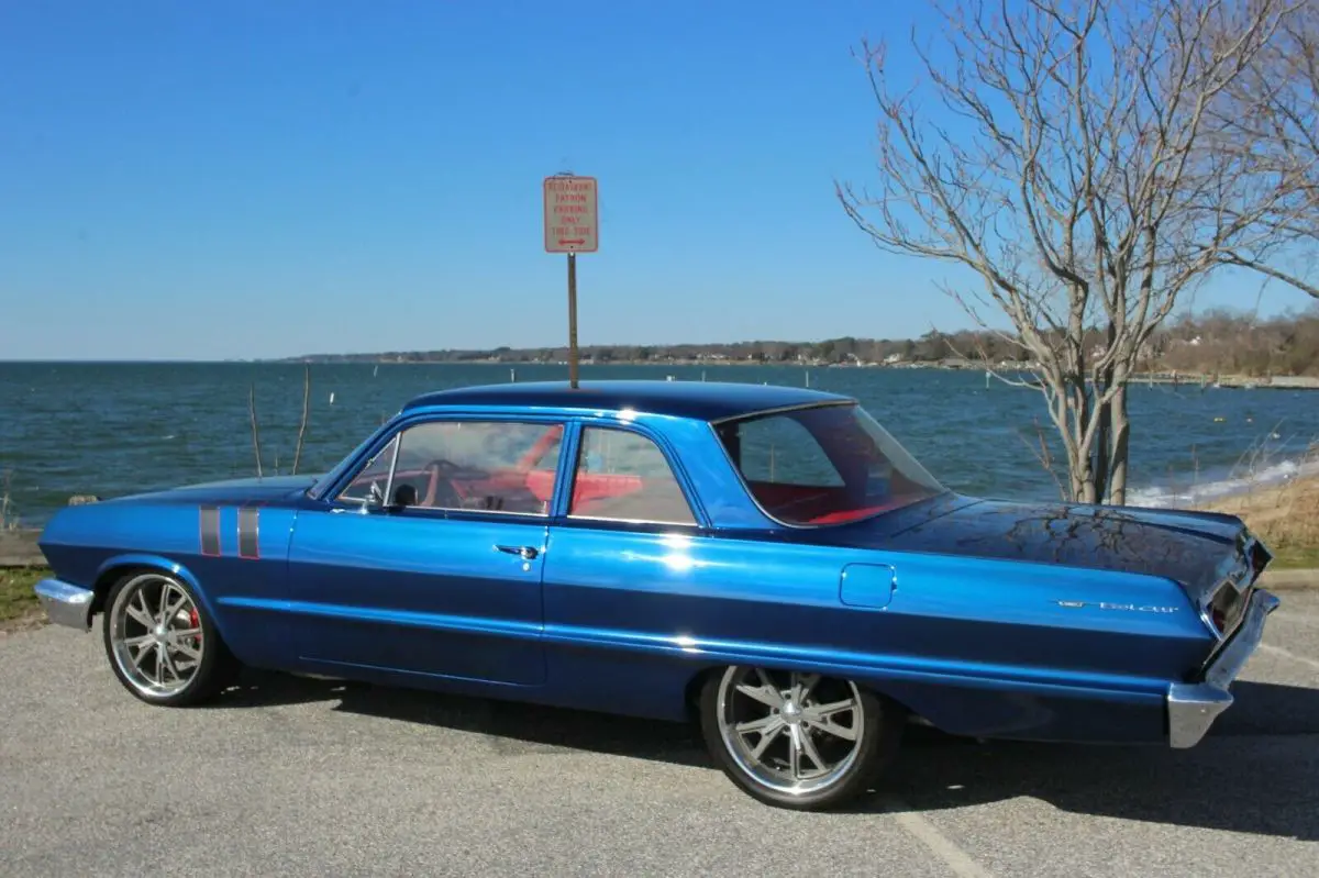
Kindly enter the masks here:
M 1319 874 L 1319 593 L 1199 747 L 910 736 L 847 813 L 754 803 L 682 726 L 249 674 L 150 708 L 98 634 L 0 635 L 0 874 Z

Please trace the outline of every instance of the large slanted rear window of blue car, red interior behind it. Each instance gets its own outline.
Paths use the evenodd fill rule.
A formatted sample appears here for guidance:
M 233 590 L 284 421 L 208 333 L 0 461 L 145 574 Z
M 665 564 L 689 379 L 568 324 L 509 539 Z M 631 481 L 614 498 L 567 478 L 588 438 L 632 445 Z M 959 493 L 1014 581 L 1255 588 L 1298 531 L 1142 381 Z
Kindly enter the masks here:
M 813 406 L 715 426 L 756 502 L 787 525 L 834 525 L 946 488 L 859 405 Z

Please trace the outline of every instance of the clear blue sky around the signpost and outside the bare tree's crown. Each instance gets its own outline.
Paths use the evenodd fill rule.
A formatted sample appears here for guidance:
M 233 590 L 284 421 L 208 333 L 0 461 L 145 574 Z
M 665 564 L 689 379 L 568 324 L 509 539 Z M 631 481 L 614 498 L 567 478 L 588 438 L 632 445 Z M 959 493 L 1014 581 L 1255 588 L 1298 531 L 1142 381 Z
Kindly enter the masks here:
M 583 344 L 963 327 L 834 195 L 874 174 L 851 51 L 923 8 L 4 4 L 0 359 L 562 344 L 565 169 L 600 181 Z

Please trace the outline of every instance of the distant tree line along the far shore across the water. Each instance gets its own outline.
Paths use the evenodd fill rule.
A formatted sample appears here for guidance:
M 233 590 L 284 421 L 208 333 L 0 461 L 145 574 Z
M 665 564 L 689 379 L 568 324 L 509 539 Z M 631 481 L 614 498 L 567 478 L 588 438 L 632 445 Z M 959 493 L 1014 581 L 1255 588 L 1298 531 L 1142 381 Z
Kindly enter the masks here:
M 1101 348 L 1097 327 L 1088 343 Z M 314 363 L 561 363 L 567 347 L 383 353 L 326 353 L 294 357 Z M 605 364 L 768 364 L 768 365 L 946 365 L 1025 366 L 1025 348 L 995 331 L 930 331 L 918 339 L 843 336 L 823 341 L 731 341 L 711 344 L 592 344 L 583 360 Z M 1249 314 L 1211 310 L 1169 320 L 1146 341 L 1138 365 L 1148 372 L 1199 374 L 1319 376 L 1319 305 L 1302 314 L 1266 320 Z

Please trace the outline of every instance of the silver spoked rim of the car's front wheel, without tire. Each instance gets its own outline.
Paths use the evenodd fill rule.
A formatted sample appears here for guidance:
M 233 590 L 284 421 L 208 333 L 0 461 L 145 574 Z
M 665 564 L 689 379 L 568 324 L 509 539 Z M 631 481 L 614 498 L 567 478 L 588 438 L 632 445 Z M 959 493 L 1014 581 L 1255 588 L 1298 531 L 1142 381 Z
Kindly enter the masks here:
M 119 591 L 109 609 L 109 643 L 124 679 L 149 697 L 186 689 L 204 655 L 197 605 L 160 573 L 136 576 Z

